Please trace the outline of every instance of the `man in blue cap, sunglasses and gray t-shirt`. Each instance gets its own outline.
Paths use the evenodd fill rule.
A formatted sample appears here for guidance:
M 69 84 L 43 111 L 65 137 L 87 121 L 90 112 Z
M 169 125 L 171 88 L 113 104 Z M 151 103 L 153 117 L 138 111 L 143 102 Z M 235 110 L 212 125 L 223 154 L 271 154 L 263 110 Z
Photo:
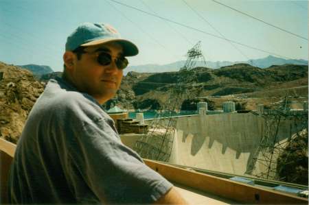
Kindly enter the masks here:
M 16 147 L 10 202 L 185 204 L 172 184 L 120 141 L 101 105 L 117 92 L 137 47 L 110 25 L 84 23 L 68 38 L 62 78 L 50 80 Z

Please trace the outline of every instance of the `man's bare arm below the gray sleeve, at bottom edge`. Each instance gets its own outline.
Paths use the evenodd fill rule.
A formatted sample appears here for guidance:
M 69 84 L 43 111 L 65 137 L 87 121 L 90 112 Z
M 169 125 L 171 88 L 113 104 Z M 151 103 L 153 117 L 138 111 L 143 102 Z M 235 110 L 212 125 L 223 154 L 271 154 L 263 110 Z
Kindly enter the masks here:
M 154 204 L 188 204 L 185 199 L 179 194 L 178 191 L 172 187 L 170 191 L 165 193 L 157 202 Z

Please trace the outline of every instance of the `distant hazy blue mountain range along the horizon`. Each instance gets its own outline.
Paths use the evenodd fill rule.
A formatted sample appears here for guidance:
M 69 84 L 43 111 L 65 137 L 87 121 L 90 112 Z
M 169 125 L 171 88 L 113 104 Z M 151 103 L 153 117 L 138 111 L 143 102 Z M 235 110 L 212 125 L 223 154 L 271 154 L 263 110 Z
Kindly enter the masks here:
M 271 67 L 272 65 L 282 65 L 282 64 L 304 64 L 308 65 L 308 60 L 287 60 L 284 58 L 277 58 L 275 56 L 267 56 L 266 58 L 260 58 L 260 59 L 253 59 L 253 60 L 247 60 L 247 61 L 237 61 L 237 62 L 230 62 L 230 61 L 206 61 L 206 64 L 204 62 L 196 62 L 196 67 L 207 67 L 210 69 L 218 69 L 220 67 L 226 67 L 233 64 L 239 64 L 239 63 L 245 63 L 245 64 L 251 64 L 255 67 L 259 67 L 261 69 L 265 69 L 268 67 Z M 185 60 L 173 62 L 170 64 L 145 64 L 145 65 L 139 65 L 139 66 L 131 66 L 128 67 L 128 69 L 125 70 L 126 73 L 130 71 L 135 71 L 139 73 L 163 73 L 163 72 L 171 72 L 171 71 L 179 71 L 181 67 L 185 64 Z

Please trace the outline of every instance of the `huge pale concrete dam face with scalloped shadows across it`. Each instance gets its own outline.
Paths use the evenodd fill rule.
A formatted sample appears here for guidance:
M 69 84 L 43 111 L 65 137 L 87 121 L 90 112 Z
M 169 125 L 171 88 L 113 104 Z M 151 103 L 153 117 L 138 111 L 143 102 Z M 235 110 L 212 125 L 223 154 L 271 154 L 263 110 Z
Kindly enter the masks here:
M 169 150 L 166 147 L 172 146 L 167 162 L 240 176 L 267 173 L 270 179 L 275 177 L 276 160 L 284 146 L 299 130 L 306 128 L 300 128 L 304 119 L 255 112 L 207 114 L 201 109 L 199 114 L 174 117 L 174 120 L 176 129 L 170 145 L 158 136 L 156 140 L 145 141 L 156 149 L 165 147 L 165 152 Z M 150 124 L 151 120 L 145 123 Z M 122 140 L 136 149 L 135 142 L 143 140 L 143 134 L 124 134 Z

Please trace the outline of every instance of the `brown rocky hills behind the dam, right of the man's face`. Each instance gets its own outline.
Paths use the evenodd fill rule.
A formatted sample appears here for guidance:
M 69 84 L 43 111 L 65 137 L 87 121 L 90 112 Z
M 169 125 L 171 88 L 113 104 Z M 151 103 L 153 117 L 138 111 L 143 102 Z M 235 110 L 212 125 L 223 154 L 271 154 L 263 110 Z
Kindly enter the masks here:
M 201 96 L 244 95 L 279 88 L 303 86 L 295 96 L 308 97 L 308 67 L 284 64 L 266 69 L 250 64 L 234 64 L 220 69 L 196 67 L 191 71 L 165 73 L 130 72 L 123 78 L 122 86 L 113 104 L 124 108 L 173 109 L 182 100 Z M 307 87 L 306 87 L 307 86 Z M 244 94 L 246 93 L 246 94 Z M 278 94 L 286 95 L 286 91 Z

